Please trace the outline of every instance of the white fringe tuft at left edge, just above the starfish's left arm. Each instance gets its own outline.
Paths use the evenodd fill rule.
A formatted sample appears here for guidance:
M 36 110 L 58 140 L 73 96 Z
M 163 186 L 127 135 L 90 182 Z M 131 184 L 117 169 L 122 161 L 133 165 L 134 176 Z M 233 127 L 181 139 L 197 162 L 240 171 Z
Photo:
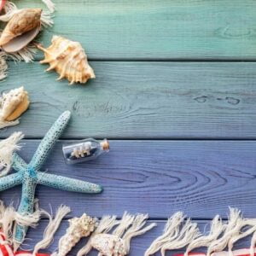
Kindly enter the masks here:
M 17 144 L 24 137 L 20 131 L 14 132 L 10 137 L 0 142 L 0 167 L 2 167 L 0 177 L 8 174 L 12 164 L 12 155 L 16 150 L 20 150 Z

